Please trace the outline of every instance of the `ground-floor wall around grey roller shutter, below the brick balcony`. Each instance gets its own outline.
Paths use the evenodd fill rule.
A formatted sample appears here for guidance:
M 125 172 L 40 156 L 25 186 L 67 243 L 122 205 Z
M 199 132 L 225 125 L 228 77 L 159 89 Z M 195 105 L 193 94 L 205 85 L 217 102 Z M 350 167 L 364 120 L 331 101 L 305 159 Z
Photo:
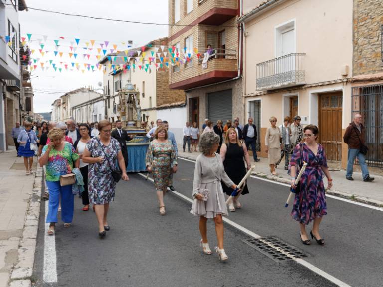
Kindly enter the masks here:
M 233 119 L 239 117 L 241 124 L 245 122 L 243 115 L 244 98 L 242 97 L 243 83 L 242 79 L 216 84 L 209 87 L 198 88 L 190 91 L 186 91 L 187 103 L 189 105 L 189 99 L 199 97 L 199 121 L 198 127 L 201 130 L 204 123 L 204 119 L 207 118 L 207 94 L 232 89 L 232 115 Z M 191 111 L 188 109 L 188 121 L 192 120 Z M 216 123 L 214 123 L 215 125 Z

